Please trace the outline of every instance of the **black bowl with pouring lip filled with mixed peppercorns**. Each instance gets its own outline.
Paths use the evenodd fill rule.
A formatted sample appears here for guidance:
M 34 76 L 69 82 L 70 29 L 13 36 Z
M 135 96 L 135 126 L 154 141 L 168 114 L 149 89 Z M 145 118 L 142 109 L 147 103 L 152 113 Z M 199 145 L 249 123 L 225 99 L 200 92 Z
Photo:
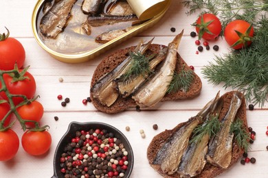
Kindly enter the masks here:
M 56 177 L 130 177 L 134 165 L 131 144 L 106 123 L 69 124 L 54 155 Z

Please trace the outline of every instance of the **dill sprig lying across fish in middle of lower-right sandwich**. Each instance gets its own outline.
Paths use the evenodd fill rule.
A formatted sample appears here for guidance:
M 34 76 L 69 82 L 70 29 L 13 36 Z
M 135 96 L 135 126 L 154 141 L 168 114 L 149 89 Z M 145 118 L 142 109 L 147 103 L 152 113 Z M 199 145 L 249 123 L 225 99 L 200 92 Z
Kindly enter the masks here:
M 219 121 L 219 115 L 211 116 L 210 119 L 205 120 L 201 125 L 198 125 L 193 130 L 193 135 L 190 140 L 192 142 L 200 142 L 205 135 L 208 134 L 209 138 L 216 136 L 216 133 L 221 129 L 221 123 Z

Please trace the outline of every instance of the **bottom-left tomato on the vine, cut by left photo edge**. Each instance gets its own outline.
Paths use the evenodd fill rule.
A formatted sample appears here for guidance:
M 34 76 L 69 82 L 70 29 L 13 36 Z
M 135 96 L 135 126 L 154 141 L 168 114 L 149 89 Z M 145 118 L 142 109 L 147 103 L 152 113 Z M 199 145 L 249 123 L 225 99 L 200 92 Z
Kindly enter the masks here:
M 8 161 L 19 149 L 19 137 L 12 129 L 0 131 L 0 161 Z

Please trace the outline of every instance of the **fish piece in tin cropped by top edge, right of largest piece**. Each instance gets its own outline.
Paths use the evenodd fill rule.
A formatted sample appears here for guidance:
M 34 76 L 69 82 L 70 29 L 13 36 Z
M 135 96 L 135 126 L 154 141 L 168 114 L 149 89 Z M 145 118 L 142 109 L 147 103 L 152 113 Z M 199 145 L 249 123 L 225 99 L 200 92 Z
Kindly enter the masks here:
M 81 8 L 85 14 L 99 14 L 101 6 L 102 0 L 84 0 Z

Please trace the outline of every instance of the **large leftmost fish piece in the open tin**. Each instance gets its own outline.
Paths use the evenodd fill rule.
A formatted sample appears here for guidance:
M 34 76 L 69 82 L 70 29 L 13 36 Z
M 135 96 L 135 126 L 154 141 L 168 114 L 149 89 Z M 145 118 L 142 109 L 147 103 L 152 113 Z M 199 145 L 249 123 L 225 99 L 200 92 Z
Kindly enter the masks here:
M 41 18 L 40 31 L 43 36 L 56 38 L 63 31 L 70 17 L 71 8 L 77 0 L 55 1 L 52 8 Z

